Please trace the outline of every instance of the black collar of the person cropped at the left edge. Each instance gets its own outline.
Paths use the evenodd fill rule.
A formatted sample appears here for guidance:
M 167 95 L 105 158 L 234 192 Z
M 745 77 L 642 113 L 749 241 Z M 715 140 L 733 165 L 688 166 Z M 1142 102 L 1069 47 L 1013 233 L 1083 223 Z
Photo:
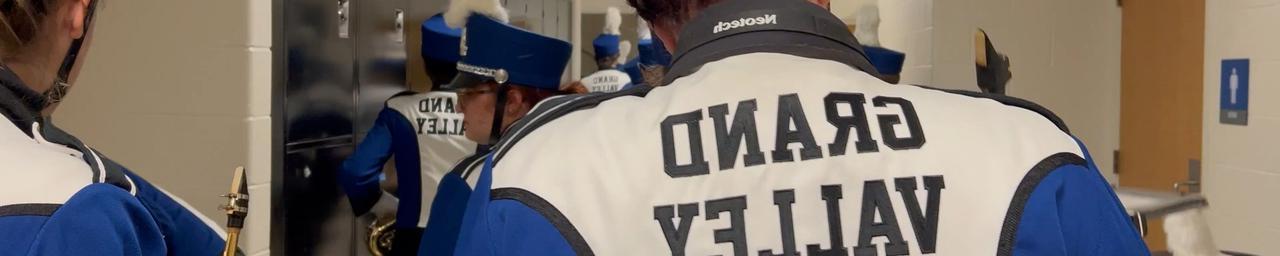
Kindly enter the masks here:
M 13 122 L 18 129 L 31 136 L 31 124 L 40 120 L 40 110 L 45 97 L 31 91 L 8 67 L 0 65 L 0 114 Z

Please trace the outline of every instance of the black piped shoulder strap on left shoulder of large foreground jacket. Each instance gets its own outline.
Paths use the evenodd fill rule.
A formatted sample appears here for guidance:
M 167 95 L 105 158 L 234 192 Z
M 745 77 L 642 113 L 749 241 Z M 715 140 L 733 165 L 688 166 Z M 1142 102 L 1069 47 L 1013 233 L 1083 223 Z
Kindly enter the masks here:
M 644 97 L 650 90 L 653 90 L 653 87 L 641 86 L 608 93 L 566 95 L 547 99 L 530 110 L 525 118 L 512 124 L 511 128 L 508 128 L 508 133 L 498 141 L 498 145 L 494 145 L 494 161 L 500 160 L 502 156 L 507 154 L 507 148 L 509 148 L 511 145 L 515 145 L 529 133 L 550 123 L 552 120 L 579 110 L 593 109 L 600 105 L 600 102 L 612 99 L 625 96 Z

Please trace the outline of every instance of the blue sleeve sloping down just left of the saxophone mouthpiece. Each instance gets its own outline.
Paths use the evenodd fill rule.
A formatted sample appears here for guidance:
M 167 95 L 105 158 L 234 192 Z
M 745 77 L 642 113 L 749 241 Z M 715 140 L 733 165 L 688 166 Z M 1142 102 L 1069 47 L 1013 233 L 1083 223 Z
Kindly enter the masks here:
M 187 206 L 165 195 L 142 177 L 125 170 L 136 186 L 134 197 L 151 211 L 152 219 L 164 234 L 170 255 L 219 255 L 227 242 L 210 227 L 210 223 L 196 216 Z

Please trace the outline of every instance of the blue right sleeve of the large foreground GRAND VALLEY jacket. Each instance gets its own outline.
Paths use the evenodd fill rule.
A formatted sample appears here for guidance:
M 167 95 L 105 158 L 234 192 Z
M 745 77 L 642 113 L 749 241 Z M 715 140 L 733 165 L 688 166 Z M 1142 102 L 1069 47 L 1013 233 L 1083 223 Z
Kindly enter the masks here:
M 1023 209 L 1014 255 L 1151 255 L 1111 186 L 1084 154 L 1083 165 L 1059 166 L 1036 186 Z

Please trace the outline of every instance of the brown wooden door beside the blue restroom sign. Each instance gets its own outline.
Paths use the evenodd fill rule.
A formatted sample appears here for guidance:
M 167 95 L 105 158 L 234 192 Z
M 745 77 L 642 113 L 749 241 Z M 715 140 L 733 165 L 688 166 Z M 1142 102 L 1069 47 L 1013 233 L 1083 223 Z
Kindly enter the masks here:
M 1120 186 L 1172 191 L 1201 157 L 1204 0 L 1123 0 Z M 1164 223 L 1147 244 L 1165 251 Z

